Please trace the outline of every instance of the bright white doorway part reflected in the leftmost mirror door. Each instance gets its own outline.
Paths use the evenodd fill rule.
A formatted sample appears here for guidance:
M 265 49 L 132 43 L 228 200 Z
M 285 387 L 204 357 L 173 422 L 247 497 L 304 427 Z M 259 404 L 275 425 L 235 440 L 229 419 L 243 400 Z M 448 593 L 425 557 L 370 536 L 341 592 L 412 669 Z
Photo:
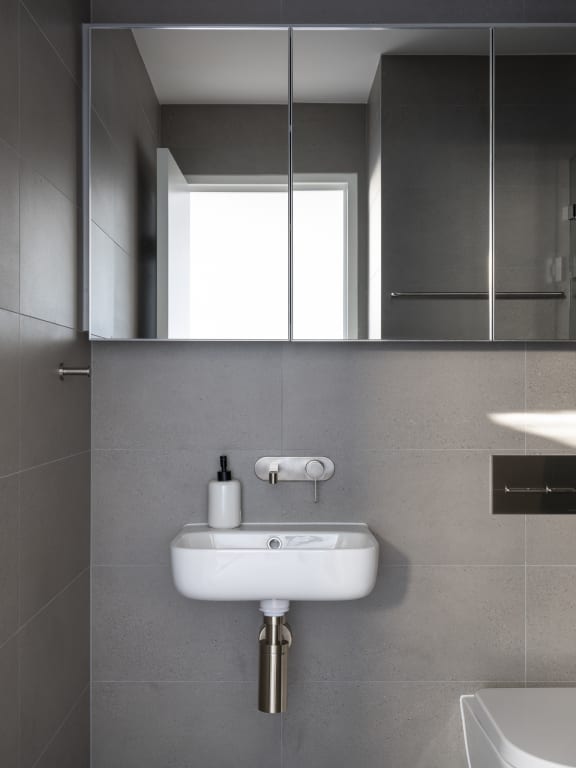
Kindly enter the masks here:
M 189 335 L 288 336 L 287 186 L 190 184 Z

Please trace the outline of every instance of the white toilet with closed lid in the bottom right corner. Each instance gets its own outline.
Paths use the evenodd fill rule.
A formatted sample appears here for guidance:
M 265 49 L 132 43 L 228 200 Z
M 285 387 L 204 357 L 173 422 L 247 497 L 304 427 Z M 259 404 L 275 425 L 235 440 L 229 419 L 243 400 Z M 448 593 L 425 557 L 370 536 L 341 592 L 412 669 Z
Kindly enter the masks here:
M 487 688 L 460 706 L 470 768 L 576 767 L 576 688 Z

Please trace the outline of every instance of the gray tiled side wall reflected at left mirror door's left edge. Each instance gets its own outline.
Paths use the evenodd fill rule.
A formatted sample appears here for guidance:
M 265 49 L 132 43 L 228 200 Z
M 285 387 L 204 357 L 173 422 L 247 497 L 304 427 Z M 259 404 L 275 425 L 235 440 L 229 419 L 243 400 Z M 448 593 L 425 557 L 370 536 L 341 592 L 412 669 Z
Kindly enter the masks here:
M 91 331 L 156 336 L 160 108 L 130 30 L 92 34 Z

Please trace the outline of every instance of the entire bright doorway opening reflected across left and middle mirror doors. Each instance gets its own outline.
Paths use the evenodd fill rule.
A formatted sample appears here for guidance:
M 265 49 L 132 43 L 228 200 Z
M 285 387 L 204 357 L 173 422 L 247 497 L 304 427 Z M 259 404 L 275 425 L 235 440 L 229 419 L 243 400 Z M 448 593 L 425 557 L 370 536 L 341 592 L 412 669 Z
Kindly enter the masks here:
M 168 252 L 169 338 L 288 336 L 288 198 L 273 177 L 181 177 Z M 173 208 L 177 212 L 176 207 Z M 357 338 L 355 175 L 296 175 L 293 337 Z M 185 224 L 185 237 L 178 236 Z M 189 238 L 188 238 L 189 234 Z M 160 281 L 159 281 L 160 282 Z

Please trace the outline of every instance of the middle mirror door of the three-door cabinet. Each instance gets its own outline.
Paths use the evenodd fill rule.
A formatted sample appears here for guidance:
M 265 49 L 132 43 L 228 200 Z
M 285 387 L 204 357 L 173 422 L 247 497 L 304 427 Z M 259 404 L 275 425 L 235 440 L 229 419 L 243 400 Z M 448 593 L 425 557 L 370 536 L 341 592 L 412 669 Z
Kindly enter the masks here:
M 489 338 L 490 33 L 293 33 L 295 339 Z

